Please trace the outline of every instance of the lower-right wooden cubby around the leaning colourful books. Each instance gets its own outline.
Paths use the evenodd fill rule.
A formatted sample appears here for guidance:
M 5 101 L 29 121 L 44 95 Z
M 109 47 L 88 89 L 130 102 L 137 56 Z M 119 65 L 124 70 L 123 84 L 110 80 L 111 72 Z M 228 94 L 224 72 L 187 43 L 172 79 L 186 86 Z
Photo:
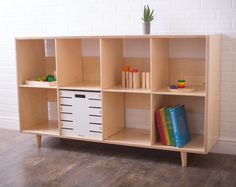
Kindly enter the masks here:
M 191 141 L 183 148 L 162 145 L 158 128 L 155 122 L 155 110 L 165 106 L 175 106 L 184 104 L 191 133 Z M 152 145 L 157 148 L 165 148 L 168 150 L 188 150 L 194 148 L 196 152 L 204 153 L 204 129 L 205 129 L 205 98 L 204 97 L 189 97 L 175 95 L 152 95 Z

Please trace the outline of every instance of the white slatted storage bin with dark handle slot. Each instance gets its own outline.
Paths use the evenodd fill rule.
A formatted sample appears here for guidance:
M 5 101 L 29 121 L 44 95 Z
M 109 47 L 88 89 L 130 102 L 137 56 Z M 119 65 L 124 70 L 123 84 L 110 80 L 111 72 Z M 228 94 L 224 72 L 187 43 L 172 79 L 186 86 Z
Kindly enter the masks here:
M 100 91 L 60 90 L 61 128 L 66 134 L 102 139 Z M 64 131 L 62 131 L 64 132 Z

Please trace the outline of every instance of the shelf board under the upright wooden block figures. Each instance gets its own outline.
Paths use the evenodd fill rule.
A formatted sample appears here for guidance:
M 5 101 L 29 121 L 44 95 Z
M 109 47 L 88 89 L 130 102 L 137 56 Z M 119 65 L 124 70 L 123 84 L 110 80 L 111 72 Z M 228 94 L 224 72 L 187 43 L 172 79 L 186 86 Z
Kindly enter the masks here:
M 103 89 L 104 92 L 127 92 L 127 93 L 151 93 L 151 90 L 146 90 L 143 88 L 124 88 L 121 85 L 113 86 L 111 88 Z

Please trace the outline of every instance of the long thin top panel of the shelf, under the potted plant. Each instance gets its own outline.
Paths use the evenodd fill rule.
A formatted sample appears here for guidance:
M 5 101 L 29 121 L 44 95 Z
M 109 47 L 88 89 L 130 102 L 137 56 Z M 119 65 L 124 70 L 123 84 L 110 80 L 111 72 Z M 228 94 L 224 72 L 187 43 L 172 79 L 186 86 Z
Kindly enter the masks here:
M 80 38 L 205 38 L 217 33 L 156 33 L 156 34 L 110 34 L 110 35 L 78 35 L 78 36 L 45 36 L 16 37 L 16 40 L 30 39 L 80 39 Z

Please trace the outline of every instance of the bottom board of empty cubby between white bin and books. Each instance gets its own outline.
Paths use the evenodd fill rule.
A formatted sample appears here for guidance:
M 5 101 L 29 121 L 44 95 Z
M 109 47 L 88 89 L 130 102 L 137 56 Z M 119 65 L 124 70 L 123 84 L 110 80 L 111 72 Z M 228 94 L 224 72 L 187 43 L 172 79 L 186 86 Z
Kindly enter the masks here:
M 128 146 L 150 146 L 150 131 L 145 129 L 124 128 L 104 140 L 107 143 Z

